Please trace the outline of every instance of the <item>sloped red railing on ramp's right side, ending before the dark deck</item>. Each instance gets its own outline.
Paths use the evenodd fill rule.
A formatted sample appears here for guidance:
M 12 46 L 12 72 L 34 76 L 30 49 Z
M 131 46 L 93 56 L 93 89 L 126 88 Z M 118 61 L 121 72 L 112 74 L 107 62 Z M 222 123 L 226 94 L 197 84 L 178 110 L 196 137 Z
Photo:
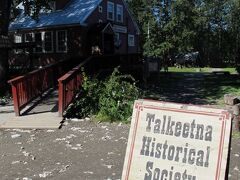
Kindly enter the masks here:
M 58 112 L 63 116 L 64 110 L 74 99 L 82 85 L 82 67 L 91 61 L 92 57 L 73 68 L 71 71 L 58 79 Z

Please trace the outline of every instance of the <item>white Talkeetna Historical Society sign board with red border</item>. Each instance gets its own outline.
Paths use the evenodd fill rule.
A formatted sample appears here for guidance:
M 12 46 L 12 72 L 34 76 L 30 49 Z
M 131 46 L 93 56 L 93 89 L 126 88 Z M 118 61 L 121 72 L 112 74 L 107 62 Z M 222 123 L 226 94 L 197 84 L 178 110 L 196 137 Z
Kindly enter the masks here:
M 225 110 L 138 100 L 122 180 L 224 180 L 230 128 Z

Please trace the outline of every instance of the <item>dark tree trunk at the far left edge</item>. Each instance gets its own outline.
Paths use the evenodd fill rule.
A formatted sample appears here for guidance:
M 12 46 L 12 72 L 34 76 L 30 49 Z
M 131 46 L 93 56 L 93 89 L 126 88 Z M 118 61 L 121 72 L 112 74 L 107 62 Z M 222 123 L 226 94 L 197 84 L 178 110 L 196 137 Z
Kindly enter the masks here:
M 8 36 L 12 0 L 0 0 L 0 36 Z M 0 48 L 0 94 L 6 91 L 8 78 L 8 50 Z

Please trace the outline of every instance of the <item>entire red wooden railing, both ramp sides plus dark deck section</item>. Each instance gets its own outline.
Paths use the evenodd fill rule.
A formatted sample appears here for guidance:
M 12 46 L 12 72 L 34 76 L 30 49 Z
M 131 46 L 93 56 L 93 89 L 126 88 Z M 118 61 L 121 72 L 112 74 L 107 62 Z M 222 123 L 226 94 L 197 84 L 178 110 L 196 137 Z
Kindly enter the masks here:
M 8 81 L 12 86 L 16 116 L 20 116 L 21 109 L 34 98 L 40 96 L 44 91 L 57 84 L 57 80 L 59 85 L 59 115 L 62 116 L 64 110 L 76 95 L 76 92 L 81 88 L 82 67 L 84 67 L 87 74 L 93 75 L 104 71 L 104 69 L 112 69 L 119 65 L 121 65 L 124 70 L 131 71 L 134 70 L 136 65 L 141 65 L 139 54 L 93 56 L 87 58 L 62 76 L 73 67 L 74 64 L 79 62 L 79 60 L 81 59 L 60 61 Z

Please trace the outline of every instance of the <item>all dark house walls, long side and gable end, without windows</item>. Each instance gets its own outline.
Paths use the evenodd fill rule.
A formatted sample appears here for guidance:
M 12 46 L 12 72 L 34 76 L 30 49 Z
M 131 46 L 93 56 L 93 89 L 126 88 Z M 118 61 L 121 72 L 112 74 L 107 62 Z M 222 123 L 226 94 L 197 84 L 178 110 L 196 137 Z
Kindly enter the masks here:
M 114 16 L 116 19 L 116 5 L 120 4 L 123 6 L 123 22 L 117 22 L 116 20 L 111 21 L 107 19 L 107 2 L 114 3 Z M 56 3 L 57 9 L 62 9 L 69 0 L 59 0 Z M 36 33 L 36 32 L 44 32 L 51 31 L 53 32 L 53 52 L 51 53 L 33 53 L 33 65 L 34 66 L 44 66 L 46 64 L 50 64 L 53 62 L 57 62 L 62 59 L 66 59 L 72 56 L 87 56 L 91 52 L 88 42 L 88 30 L 89 27 L 93 24 L 96 24 L 101 20 L 103 23 L 110 22 L 113 27 L 119 26 L 121 28 L 125 28 L 126 32 L 119 32 L 119 38 L 121 40 L 121 44 L 119 47 L 115 46 L 115 53 L 119 54 L 127 54 L 127 53 L 137 53 L 139 52 L 139 35 L 137 34 L 137 29 L 134 26 L 134 22 L 130 17 L 129 12 L 124 6 L 122 0 L 103 0 L 99 5 L 102 7 L 102 12 L 99 12 L 99 7 L 95 9 L 95 11 L 86 19 L 86 26 L 78 25 L 67 25 L 64 27 L 48 27 L 42 29 L 34 29 L 34 30 L 22 30 L 17 32 L 19 34 L 24 35 L 25 33 Z M 66 53 L 59 53 L 56 51 L 56 32 L 59 30 L 67 31 L 67 43 L 68 43 L 68 51 Z M 116 29 L 115 29 L 116 30 Z M 12 32 L 14 35 L 16 32 Z M 135 45 L 128 46 L 128 35 L 134 35 Z M 24 40 L 24 38 L 23 38 Z M 24 41 L 23 41 L 24 42 Z M 10 64 L 14 65 L 22 65 L 26 64 L 29 61 L 29 54 L 26 54 L 24 51 L 21 54 L 15 54 L 13 51 L 10 56 Z

